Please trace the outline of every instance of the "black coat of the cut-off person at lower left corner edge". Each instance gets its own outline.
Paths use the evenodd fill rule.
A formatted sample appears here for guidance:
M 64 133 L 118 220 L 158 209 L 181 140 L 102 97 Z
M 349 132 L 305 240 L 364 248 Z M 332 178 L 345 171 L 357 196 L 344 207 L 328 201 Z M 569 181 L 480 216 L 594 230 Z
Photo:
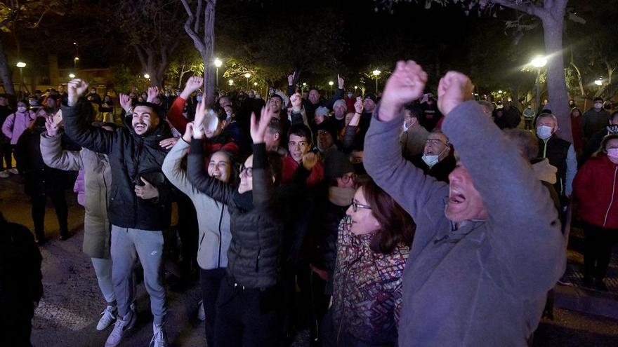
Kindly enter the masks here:
M 43 296 L 41 261 L 32 233 L 25 226 L 6 222 L 0 213 L 0 315 L 32 318 L 32 303 Z

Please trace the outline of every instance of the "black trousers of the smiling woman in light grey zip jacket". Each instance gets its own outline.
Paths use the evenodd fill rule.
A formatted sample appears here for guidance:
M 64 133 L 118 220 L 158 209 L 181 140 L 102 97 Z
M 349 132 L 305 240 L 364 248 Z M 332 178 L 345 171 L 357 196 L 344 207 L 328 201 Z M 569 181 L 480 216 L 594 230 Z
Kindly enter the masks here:
M 221 280 L 225 276 L 225 268 L 210 270 L 199 269 L 199 284 L 202 286 L 202 302 L 206 314 L 206 342 L 208 346 L 215 346 L 216 302 L 221 287 Z

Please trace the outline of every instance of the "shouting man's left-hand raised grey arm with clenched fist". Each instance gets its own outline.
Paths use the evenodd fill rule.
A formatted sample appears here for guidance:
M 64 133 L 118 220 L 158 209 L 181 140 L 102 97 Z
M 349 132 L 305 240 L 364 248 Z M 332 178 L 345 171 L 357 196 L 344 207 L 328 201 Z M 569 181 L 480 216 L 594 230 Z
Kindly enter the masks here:
M 426 205 L 436 205 L 427 204 L 430 199 L 442 200 L 448 196 L 447 184 L 435 182 L 401 155 L 399 128 L 403 122 L 403 105 L 423 95 L 426 81 L 426 72 L 416 62 L 397 62 L 364 140 L 365 169 L 414 219 L 418 219 Z M 440 215 L 444 210 L 431 213 Z

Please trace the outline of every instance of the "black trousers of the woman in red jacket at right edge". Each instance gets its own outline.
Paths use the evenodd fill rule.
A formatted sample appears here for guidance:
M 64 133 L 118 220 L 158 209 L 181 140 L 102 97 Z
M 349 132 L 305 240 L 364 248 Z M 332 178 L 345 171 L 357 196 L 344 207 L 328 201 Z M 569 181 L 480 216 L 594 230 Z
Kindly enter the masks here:
M 603 280 L 610 265 L 612 247 L 618 242 L 618 230 L 584 222 L 584 235 L 584 276 Z

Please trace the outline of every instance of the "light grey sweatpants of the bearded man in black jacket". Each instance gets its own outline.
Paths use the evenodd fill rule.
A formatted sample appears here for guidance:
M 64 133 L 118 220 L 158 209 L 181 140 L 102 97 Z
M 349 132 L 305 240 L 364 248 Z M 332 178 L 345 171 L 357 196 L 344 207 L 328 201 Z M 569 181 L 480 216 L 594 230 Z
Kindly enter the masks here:
M 163 324 L 167 311 L 162 273 L 163 232 L 112 225 L 111 252 L 112 280 L 119 315 L 126 316 L 133 302 L 133 265 L 136 256 L 139 256 L 144 268 L 144 285 L 150 295 L 150 311 L 155 317 L 155 324 Z

